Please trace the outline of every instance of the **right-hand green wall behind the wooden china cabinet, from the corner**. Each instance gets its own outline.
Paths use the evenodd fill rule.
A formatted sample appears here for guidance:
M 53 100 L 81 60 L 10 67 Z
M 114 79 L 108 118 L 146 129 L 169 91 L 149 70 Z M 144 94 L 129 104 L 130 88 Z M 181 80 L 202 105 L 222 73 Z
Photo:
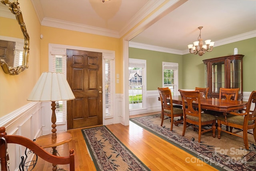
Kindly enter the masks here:
M 243 91 L 256 90 L 256 38 L 214 47 L 212 52 L 206 52 L 203 56 L 183 55 L 182 88 L 204 87 L 204 64 L 202 60 L 232 55 L 234 48 L 238 48 L 238 54 L 244 55 Z

